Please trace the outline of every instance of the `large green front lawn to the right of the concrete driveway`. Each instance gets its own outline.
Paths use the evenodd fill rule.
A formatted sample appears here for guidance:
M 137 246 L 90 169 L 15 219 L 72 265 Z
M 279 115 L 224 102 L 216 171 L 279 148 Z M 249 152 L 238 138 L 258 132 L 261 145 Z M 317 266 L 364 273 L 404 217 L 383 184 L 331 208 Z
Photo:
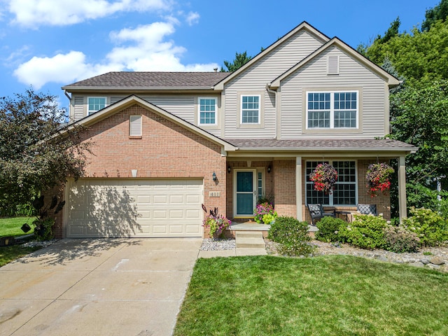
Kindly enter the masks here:
M 448 335 L 448 274 L 347 255 L 199 259 L 174 335 Z

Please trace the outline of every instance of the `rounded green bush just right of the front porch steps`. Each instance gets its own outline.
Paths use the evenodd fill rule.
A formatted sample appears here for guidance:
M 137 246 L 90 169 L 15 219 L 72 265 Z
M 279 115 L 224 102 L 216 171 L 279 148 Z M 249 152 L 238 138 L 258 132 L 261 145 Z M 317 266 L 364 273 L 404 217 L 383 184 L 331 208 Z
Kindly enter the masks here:
M 310 244 L 308 223 L 293 217 L 276 218 L 267 235 L 272 241 L 279 243 L 278 251 L 287 255 L 309 255 L 316 249 Z

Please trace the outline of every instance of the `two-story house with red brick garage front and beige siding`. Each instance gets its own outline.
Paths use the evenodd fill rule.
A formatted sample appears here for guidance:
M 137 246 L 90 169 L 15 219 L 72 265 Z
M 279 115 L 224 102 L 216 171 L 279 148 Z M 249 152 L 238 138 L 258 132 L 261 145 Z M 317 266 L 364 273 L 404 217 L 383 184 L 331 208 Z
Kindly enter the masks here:
M 203 237 L 204 211 L 253 218 L 261 197 L 310 221 L 306 204 L 356 211 L 372 202 L 365 172 L 405 156 L 389 132 L 388 90 L 399 80 L 339 38 L 302 22 L 233 73 L 110 72 L 62 87 L 93 141 L 85 177 L 64 188 L 59 237 Z M 309 174 L 339 174 L 330 195 Z M 390 217 L 388 196 L 374 199 Z

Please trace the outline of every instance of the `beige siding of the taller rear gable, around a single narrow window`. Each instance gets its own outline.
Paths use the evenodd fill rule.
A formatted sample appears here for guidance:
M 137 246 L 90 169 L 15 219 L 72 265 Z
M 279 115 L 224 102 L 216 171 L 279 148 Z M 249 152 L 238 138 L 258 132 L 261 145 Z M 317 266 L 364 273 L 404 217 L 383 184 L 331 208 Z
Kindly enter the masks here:
M 283 72 L 290 69 L 304 57 L 322 45 L 322 41 L 307 30 L 298 31 L 285 43 L 269 52 L 253 64 L 249 69 L 225 85 L 225 137 L 226 138 L 273 138 L 276 136 L 276 108 L 274 94 L 269 94 L 266 84 L 270 83 Z M 265 106 L 261 106 L 264 113 L 264 127 L 239 128 L 237 127 L 239 92 L 264 92 Z

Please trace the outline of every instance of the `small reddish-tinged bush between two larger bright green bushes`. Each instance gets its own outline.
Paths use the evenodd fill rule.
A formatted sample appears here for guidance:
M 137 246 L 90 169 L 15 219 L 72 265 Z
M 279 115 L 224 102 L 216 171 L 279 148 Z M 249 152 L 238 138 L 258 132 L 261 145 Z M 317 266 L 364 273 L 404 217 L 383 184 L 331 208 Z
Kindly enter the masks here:
M 416 233 L 403 226 L 387 225 L 384 229 L 386 249 L 397 253 L 416 252 L 420 246 L 420 239 Z

